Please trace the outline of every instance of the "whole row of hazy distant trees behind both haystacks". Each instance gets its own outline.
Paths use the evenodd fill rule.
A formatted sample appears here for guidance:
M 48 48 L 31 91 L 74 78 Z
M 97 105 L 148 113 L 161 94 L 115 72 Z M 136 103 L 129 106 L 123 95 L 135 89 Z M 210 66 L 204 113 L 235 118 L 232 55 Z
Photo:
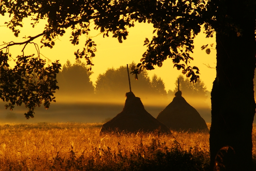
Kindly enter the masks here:
M 129 64 L 129 71 L 135 65 L 134 62 Z M 86 63 L 76 60 L 74 64 L 71 64 L 70 61 L 67 61 L 57 76 L 58 85 L 60 86 L 60 90 L 56 93 L 57 100 L 58 97 L 65 96 L 77 101 L 84 99 L 100 100 L 102 102 L 113 99 L 120 101 L 124 99 L 124 94 L 129 92 L 126 66 L 120 66 L 117 69 L 108 68 L 106 72 L 98 75 L 95 84 L 90 80 L 92 74 L 93 72 L 86 67 Z M 130 74 L 130 77 L 132 92 L 149 103 L 168 103 L 178 90 L 178 81 L 176 81 L 176 88 L 168 90 L 167 93 L 163 80 L 157 75 L 150 78 L 145 70 L 138 75 L 138 80 L 134 79 L 132 74 Z M 202 80 L 198 79 L 195 84 L 192 84 L 189 83 L 188 78 L 184 78 L 182 75 L 179 78 L 183 97 L 189 94 L 189 96 L 206 100 L 207 90 Z

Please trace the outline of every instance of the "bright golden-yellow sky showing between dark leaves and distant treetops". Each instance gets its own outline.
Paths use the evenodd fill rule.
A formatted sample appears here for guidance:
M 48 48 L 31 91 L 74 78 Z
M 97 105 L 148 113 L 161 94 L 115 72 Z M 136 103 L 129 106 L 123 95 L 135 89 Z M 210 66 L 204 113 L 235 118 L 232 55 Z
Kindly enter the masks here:
M 39 33 L 42 33 L 44 30 L 44 26 L 46 22 L 41 20 L 35 28 L 32 28 L 32 23 L 30 19 L 25 19 L 23 21 L 23 27 L 19 28 L 21 33 L 19 37 L 16 38 L 12 31 L 7 27 L 4 27 L 4 22 L 9 21 L 8 17 L 0 17 L 0 42 L 22 42 L 25 39 L 22 39 L 24 36 L 36 36 Z M 99 32 L 93 30 L 93 26 L 91 27 L 91 36 L 97 35 Z M 91 80 L 95 83 L 97 76 L 100 73 L 104 73 L 108 68 L 117 68 L 120 65 L 126 65 L 127 63 L 131 63 L 134 61 L 135 63 L 139 63 L 142 58 L 142 54 L 146 51 L 147 47 L 144 46 L 144 40 L 147 37 L 149 41 L 153 37 L 153 26 L 148 23 L 135 23 L 135 27 L 129 28 L 129 35 L 127 40 L 123 40 L 123 43 L 119 43 L 116 38 L 112 38 L 112 35 L 109 34 L 109 37 L 103 38 L 103 35 L 98 35 L 94 37 L 93 40 L 97 44 L 97 52 L 96 56 L 93 58 L 93 63 L 95 64 L 92 67 L 92 71 L 94 72 L 91 75 Z M 80 37 L 79 45 L 72 45 L 69 41 L 69 37 L 71 36 L 71 29 L 67 29 L 64 36 L 59 37 L 58 40 L 55 41 L 55 45 L 52 49 L 48 47 L 43 47 L 40 49 L 40 53 L 51 59 L 52 61 L 60 60 L 60 63 L 63 65 L 66 63 L 67 59 L 71 61 L 71 63 L 75 62 L 74 51 L 77 49 L 84 48 L 85 37 L 82 35 Z M 34 40 L 35 43 L 40 47 L 42 44 L 40 43 L 41 38 L 37 38 Z M 194 39 L 194 53 L 190 54 L 194 58 L 194 61 L 191 61 L 191 66 L 197 66 L 200 70 L 200 78 L 204 81 L 207 86 L 207 90 L 211 91 L 212 82 L 216 77 L 216 70 L 207 68 L 204 64 L 209 64 L 211 67 L 216 66 L 216 50 L 211 49 L 211 54 L 207 55 L 205 50 L 201 50 L 202 45 L 215 43 L 214 38 L 205 38 L 205 34 L 203 31 Z M 216 43 L 213 48 L 215 48 Z M 1 46 L 2 48 L 2 46 Z M 16 57 L 17 55 L 21 55 L 21 46 L 12 46 L 10 47 L 10 53 L 12 57 Z M 34 45 L 28 44 L 25 48 L 25 55 L 37 54 Z M 41 58 L 43 56 L 41 55 Z M 82 59 L 82 62 L 85 62 L 85 59 Z M 164 80 L 166 90 L 173 90 L 175 85 L 174 82 L 179 74 L 181 74 L 181 70 L 178 71 L 173 68 L 173 63 L 171 59 L 167 59 L 164 61 L 163 66 L 161 68 L 155 67 L 155 70 L 148 71 L 149 76 L 151 77 L 153 74 L 156 74 L 158 77 L 161 77 Z M 134 77 L 131 76 L 133 79 Z M 128 90 L 127 90 L 128 91 Z

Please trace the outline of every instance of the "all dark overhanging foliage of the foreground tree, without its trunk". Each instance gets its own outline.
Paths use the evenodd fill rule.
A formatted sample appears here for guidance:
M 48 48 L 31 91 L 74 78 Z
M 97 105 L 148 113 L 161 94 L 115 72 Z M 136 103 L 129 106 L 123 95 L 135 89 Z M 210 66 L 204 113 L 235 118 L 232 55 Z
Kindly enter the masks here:
M 60 64 L 56 61 L 45 67 L 45 62 L 40 59 L 39 53 L 36 57 L 26 57 L 23 54 L 18 56 L 19 62 L 13 70 L 8 65 L 8 60 L 11 59 L 8 47 L 24 45 L 25 48 L 28 43 L 33 43 L 34 39 L 42 37 L 41 48 L 52 48 L 58 36 L 62 36 L 66 32 L 65 29 L 71 28 L 70 41 L 73 45 L 79 43 L 81 35 L 84 34 L 87 38 L 84 49 L 77 50 L 74 54 L 76 59 L 85 58 L 89 65 L 88 69 L 91 70 L 92 58 L 97 50 L 96 43 L 89 34 L 92 24 L 95 25 L 94 29 L 100 30 L 103 37 L 108 37 L 109 33 L 112 33 L 113 37 L 122 43 L 127 39 L 127 28 L 133 27 L 135 22 L 152 23 L 157 35 L 151 40 L 146 38 L 144 41 L 148 49 L 142 55 L 138 68 L 134 68 L 132 73 L 137 75 L 143 69 L 152 70 L 155 65 L 161 67 L 164 60 L 171 58 L 174 67 L 178 70 L 182 69 L 182 73 L 190 77 L 190 82 L 196 82 L 199 78 L 197 75 L 199 69 L 196 66 L 189 66 L 189 61 L 193 60 L 189 53 L 193 53 L 193 39 L 200 32 L 201 25 L 204 24 L 206 37 L 212 37 L 215 31 L 228 34 L 230 30 L 237 32 L 237 36 L 243 35 L 243 30 L 237 24 L 238 21 L 226 15 L 225 1 L 208 0 L 207 4 L 205 2 L 204 0 L 2 0 L 0 13 L 9 15 L 10 20 L 5 25 L 15 36 L 19 36 L 19 27 L 23 26 L 24 18 L 32 19 L 32 27 L 42 19 L 47 20 L 48 24 L 42 33 L 28 36 L 28 40 L 24 42 L 11 41 L 0 47 L 1 79 L 4 80 L 4 74 L 9 73 L 11 77 L 9 79 L 16 80 L 10 88 L 6 88 L 9 83 L 1 82 L 1 98 L 10 100 L 11 103 L 7 107 L 11 109 L 15 103 L 19 105 L 24 102 L 29 107 L 29 112 L 25 114 L 27 118 L 33 116 L 34 107 L 41 104 L 42 100 L 45 108 L 48 108 L 53 99 L 52 93 L 58 88 L 55 75 L 60 70 Z M 254 1 L 244 4 L 247 8 L 255 9 Z M 244 18 L 252 15 L 255 16 L 255 12 L 244 14 Z M 39 51 L 36 44 L 35 47 Z M 17 74 L 21 70 L 23 74 Z M 31 83 L 33 88 L 24 89 L 24 86 L 28 85 L 28 81 L 25 80 L 32 77 L 30 74 L 32 71 L 39 80 L 35 79 Z

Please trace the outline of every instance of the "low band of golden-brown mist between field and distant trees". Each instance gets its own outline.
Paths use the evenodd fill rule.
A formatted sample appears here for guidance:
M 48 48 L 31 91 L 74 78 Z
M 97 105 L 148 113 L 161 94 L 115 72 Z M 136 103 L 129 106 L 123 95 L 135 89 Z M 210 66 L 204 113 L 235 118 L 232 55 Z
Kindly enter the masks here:
M 126 93 L 126 92 L 125 92 Z M 51 102 L 50 108 L 45 109 L 36 107 L 35 117 L 26 119 L 24 113 L 27 108 L 24 105 L 15 106 L 12 111 L 5 110 L 4 105 L 8 102 L 0 102 L 0 121 L 1 123 L 38 123 L 38 122 L 107 122 L 123 110 L 125 102 L 125 93 L 113 97 L 106 94 L 105 96 L 96 97 L 79 97 L 79 94 L 73 96 L 56 95 L 56 103 Z M 139 93 L 134 94 L 140 97 Z M 173 97 L 172 97 L 173 98 Z M 186 99 L 186 98 L 185 98 Z M 204 118 L 205 122 L 211 122 L 211 110 L 205 104 L 197 104 L 193 99 L 186 99 Z M 145 109 L 152 116 L 156 116 L 172 101 L 172 99 L 159 99 L 157 97 L 141 97 Z M 197 104 L 197 105 L 196 105 Z

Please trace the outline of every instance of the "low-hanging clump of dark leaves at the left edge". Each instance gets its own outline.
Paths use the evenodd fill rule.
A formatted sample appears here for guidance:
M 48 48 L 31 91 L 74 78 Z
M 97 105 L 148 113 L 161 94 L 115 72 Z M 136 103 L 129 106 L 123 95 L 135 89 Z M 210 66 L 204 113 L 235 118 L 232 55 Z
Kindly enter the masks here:
M 9 55 L 10 57 L 10 55 Z M 44 100 L 44 108 L 48 109 L 50 102 L 55 102 L 57 86 L 56 74 L 60 70 L 60 63 L 56 61 L 45 67 L 46 61 L 39 57 L 17 56 L 16 66 L 8 64 L 8 53 L 0 51 L 0 98 L 10 103 L 5 109 L 10 110 L 17 104 L 25 103 L 28 112 L 25 117 L 34 117 L 34 109 L 40 107 Z

